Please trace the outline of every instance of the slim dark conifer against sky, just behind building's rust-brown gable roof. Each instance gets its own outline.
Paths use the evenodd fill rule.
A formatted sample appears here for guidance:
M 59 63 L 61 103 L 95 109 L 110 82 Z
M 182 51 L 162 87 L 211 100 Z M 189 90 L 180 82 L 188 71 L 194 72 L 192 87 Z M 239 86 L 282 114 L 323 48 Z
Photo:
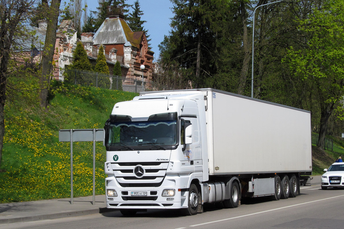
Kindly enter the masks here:
M 143 28 L 143 24 L 146 23 L 147 21 L 142 21 L 141 20 L 141 16 L 143 15 L 143 11 L 140 10 L 140 3 L 138 0 L 136 0 L 133 4 L 133 6 L 131 6 L 131 8 L 133 9 L 132 12 L 129 13 L 128 17 L 127 17 L 127 22 L 129 27 L 131 28 L 131 30 L 133 32 L 140 32 L 143 31 L 146 34 L 146 38 L 147 38 L 147 43 L 148 46 L 150 46 L 151 44 L 149 44 L 149 42 L 152 39 L 148 39 L 150 35 L 148 35 L 148 30 L 145 30 Z M 149 49 L 151 49 L 151 47 L 148 47 Z

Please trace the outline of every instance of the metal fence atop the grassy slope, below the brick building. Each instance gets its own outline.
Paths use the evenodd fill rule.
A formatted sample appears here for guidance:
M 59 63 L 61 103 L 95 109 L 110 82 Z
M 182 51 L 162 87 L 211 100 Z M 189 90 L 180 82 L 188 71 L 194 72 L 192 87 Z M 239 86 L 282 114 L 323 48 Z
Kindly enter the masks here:
M 54 68 L 53 78 L 59 81 L 74 83 L 76 85 L 91 86 L 110 90 L 120 90 L 127 92 L 152 91 L 152 81 L 144 79 L 123 79 L 121 76 L 106 74 L 101 72 Z

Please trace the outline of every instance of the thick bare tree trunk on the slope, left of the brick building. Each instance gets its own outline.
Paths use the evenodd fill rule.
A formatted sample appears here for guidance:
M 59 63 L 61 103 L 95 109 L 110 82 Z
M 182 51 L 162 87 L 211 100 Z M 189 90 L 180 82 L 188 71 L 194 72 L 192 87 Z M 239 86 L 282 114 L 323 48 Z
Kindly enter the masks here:
M 42 54 L 42 76 L 40 79 L 41 91 L 40 100 L 41 106 L 47 106 L 48 89 L 50 84 L 50 72 L 53 67 L 53 57 L 56 43 L 56 28 L 58 22 L 58 15 L 60 15 L 61 0 L 51 0 L 50 5 L 48 0 L 42 0 L 42 9 L 45 12 L 45 19 L 47 22 L 45 42 Z

